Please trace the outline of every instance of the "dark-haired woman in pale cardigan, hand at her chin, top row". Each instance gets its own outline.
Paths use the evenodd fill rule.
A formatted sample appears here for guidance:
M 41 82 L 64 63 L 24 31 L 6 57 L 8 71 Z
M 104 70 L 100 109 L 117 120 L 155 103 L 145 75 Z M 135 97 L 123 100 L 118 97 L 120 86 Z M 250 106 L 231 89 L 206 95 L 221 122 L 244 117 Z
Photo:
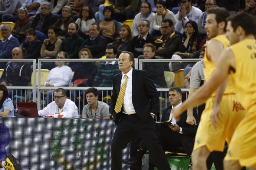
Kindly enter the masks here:
M 162 21 L 166 18 L 169 18 L 171 21 L 173 21 L 173 25 L 175 26 L 177 19 L 174 15 L 174 13 L 170 10 L 168 10 L 165 6 L 165 1 L 159 0 L 156 2 L 156 8 L 157 8 L 157 13 L 155 14 L 154 17 L 154 23 L 153 23 L 153 32 L 152 36 L 161 36 L 160 28 Z

